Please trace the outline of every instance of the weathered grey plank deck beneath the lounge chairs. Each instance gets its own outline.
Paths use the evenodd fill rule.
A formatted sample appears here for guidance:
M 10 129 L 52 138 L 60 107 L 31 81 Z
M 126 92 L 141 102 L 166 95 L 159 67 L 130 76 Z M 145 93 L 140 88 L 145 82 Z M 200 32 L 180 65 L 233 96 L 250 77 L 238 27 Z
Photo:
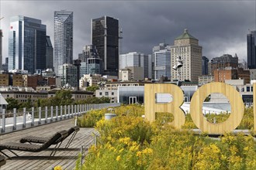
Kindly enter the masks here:
M 74 120 L 59 121 L 52 124 L 44 124 L 39 127 L 29 128 L 22 131 L 16 131 L 9 134 L 0 135 L 1 143 L 8 143 L 9 141 L 19 142 L 19 139 L 28 135 L 47 137 L 55 134 L 56 131 L 67 130 L 74 126 Z M 7 155 L 12 156 L 12 159 L 7 159 L 6 164 L 3 165 L 1 170 L 11 169 L 51 169 L 54 166 L 61 165 L 63 169 L 74 169 L 78 154 L 83 146 L 85 153 L 87 153 L 88 147 L 94 144 L 94 136 L 92 132 L 95 132 L 94 128 L 80 128 L 78 134 L 74 137 L 73 142 L 69 148 L 64 149 L 67 141 L 70 137 L 64 140 L 61 147 L 58 149 L 54 157 L 50 157 L 50 152 L 53 151 L 54 146 L 50 147 L 46 151 L 40 152 L 27 152 L 16 151 L 19 157 L 15 157 L 8 150 L 3 150 Z M 84 160 L 83 160 L 84 161 Z

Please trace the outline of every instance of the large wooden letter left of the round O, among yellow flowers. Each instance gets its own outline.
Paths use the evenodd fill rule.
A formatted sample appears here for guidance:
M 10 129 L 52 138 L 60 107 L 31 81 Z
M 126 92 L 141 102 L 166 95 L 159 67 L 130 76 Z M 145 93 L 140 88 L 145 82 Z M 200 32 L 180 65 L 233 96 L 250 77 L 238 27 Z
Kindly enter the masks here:
M 169 93 L 172 96 L 170 103 L 157 103 L 157 93 Z M 156 112 L 168 112 L 173 114 L 174 121 L 171 124 L 175 128 L 182 128 L 185 124 L 185 114 L 180 108 L 183 104 L 183 91 L 171 83 L 148 83 L 144 87 L 145 117 L 147 121 L 155 121 Z

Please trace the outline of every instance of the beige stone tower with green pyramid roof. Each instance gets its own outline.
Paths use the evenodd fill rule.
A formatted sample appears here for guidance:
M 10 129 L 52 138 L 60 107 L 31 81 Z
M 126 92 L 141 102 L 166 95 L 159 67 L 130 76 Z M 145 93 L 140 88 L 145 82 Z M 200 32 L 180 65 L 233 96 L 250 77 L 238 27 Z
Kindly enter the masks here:
M 202 76 L 202 46 L 199 40 L 184 30 L 181 36 L 175 39 L 175 45 L 171 46 L 171 68 L 176 64 L 176 57 L 181 56 L 183 66 L 179 80 L 189 80 L 197 83 Z M 171 70 L 171 80 L 178 80 L 178 71 Z

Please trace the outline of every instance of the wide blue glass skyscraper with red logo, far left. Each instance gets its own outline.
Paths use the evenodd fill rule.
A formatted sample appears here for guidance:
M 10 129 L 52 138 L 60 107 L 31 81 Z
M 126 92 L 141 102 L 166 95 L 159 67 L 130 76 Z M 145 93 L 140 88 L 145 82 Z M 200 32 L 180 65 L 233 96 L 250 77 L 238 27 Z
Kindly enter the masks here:
M 26 16 L 11 18 L 9 31 L 9 65 L 8 69 L 43 70 L 46 67 L 46 32 L 47 26 L 40 19 Z

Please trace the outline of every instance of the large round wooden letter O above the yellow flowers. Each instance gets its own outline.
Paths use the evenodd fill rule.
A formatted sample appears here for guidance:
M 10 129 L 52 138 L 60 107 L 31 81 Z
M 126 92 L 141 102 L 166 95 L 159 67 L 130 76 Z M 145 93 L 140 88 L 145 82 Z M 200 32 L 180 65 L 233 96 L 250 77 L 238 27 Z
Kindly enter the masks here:
M 210 93 L 223 93 L 230 100 L 231 114 L 227 121 L 212 124 L 202 114 L 202 103 Z M 207 83 L 193 94 L 190 103 L 190 114 L 194 124 L 209 134 L 223 134 L 234 131 L 244 116 L 244 102 L 234 87 L 226 83 Z

